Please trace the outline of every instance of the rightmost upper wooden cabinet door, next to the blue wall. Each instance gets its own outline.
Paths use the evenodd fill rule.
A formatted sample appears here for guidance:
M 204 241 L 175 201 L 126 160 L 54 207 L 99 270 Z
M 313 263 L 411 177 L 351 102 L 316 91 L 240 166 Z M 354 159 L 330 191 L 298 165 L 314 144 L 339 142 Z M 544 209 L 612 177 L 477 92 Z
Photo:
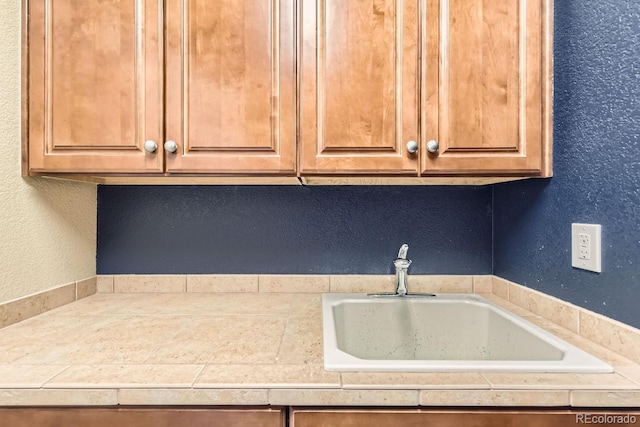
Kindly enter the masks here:
M 550 13 L 548 0 L 427 0 L 424 174 L 550 173 L 543 163 Z M 439 143 L 434 154 L 429 140 Z

